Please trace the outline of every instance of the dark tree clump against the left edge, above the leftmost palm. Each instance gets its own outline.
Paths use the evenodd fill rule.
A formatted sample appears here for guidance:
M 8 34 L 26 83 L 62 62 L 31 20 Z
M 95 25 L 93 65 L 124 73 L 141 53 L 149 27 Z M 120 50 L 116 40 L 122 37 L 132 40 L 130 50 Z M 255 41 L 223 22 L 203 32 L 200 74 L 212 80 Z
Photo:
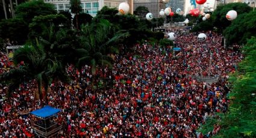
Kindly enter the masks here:
M 23 19 L 7 19 L 0 22 L 0 37 L 23 44 L 27 40 L 28 25 Z

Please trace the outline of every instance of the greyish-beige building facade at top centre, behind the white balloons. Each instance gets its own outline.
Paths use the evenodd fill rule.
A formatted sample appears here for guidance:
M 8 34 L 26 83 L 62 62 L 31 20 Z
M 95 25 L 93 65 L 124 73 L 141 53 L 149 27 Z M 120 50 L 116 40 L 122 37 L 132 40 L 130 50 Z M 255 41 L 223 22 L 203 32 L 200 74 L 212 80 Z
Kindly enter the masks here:
M 160 10 L 165 8 L 165 5 L 161 0 L 133 0 L 133 9 L 136 10 L 139 6 L 147 7 L 154 17 L 160 17 Z

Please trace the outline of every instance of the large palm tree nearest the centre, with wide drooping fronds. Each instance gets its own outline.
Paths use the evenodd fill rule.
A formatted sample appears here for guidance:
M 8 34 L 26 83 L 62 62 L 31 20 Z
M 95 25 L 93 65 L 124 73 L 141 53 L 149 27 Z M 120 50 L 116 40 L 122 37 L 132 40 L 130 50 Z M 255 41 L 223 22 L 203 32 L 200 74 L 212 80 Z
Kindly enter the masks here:
M 128 36 L 127 32 L 117 31 L 108 20 L 82 26 L 80 36 L 82 49 L 78 54 L 80 58 L 77 61 L 77 67 L 81 69 L 85 64 L 91 65 L 93 75 L 98 65 L 111 67 L 113 59 L 109 55 L 118 52 L 116 43 L 126 36 Z

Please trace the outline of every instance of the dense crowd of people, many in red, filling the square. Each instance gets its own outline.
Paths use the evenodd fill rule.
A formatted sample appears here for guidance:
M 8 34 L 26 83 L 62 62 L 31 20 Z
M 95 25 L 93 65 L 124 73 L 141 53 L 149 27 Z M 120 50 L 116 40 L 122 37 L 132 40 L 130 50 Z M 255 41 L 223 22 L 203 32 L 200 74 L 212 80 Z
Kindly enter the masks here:
M 222 36 L 205 32 L 199 42 L 193 33 L 175 31 L 171 46 L 137 44 L 114 56 L 113 68 L 90 66 L 78 71 L 66 68 L 70 84 L 52 82 L 49 105 L 61 109 L 57 122 L 60 137 L 210 137 L 221 128 L 203 135 L 198 128 L 216 112 L 226 112 L 229 92 L 226 79 L 243 58 L 224 49 Z M 132 52 L 131 52 L 132 51 Z M 1 53 L 1 64 L 8 59 Z M 0 70 L 4 66 L 0 66 Z M 81 74 L 80 74 L 81 73 Z M 205 83 L 196 76 L 214 76 Z M 0 88 L 0 137 L 33 137 L 29 112 L 39 109 L 35 80 L 23 83 L 7 100 L 7 86 Z

